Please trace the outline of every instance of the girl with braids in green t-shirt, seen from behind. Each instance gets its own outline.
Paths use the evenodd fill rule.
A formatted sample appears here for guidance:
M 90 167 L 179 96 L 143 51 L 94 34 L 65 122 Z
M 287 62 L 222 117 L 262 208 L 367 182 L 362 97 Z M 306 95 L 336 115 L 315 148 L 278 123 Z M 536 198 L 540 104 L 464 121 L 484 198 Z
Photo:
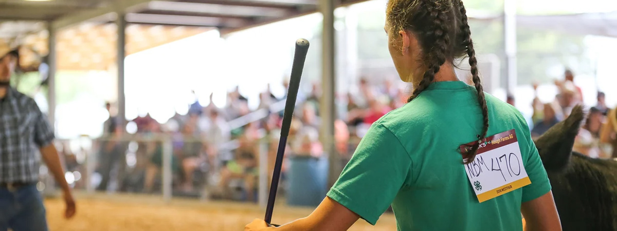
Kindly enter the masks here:
M 245 230 L 347 230 L 358 219 L 375 224 L 389 205 L 398 230 L 521 230 L 521 214 L 527 230 L 561 230 L 526 121 L 482 90 L 462 0 L 389 0 L 384 29 L 400 79 L 413 84 L 408 103 L 373 123 L 312 214 L 280 227 L 256 219 Z M 465 56 L 473 86 L 454 71 Z M 458 145 L 511 130 L 531 184 L 479 203 L 463 168 L 479 145 Z

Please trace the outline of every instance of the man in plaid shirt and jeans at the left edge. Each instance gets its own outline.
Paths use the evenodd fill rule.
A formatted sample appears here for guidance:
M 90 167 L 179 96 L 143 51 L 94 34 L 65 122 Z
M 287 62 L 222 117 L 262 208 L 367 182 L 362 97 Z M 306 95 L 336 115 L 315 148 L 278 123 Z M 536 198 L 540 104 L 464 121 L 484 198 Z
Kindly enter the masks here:
M 39 180 L 38 148 L 62 187 L 65 217 L 75 214 L 75 200 L 60 165 L 54 131 L 36 102 L 9 86 L 19 60 L 17 51 L 0 47 L 0 231 L 48 230 Z

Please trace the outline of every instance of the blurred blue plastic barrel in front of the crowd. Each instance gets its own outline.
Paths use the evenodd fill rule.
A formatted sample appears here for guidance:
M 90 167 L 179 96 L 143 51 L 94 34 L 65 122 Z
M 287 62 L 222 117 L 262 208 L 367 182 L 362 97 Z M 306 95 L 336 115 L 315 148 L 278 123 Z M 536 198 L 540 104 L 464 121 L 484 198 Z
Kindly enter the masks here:
M 290 156 L 288 169 L 288 205 L 318 206 L 327 193 L 328 158 Z

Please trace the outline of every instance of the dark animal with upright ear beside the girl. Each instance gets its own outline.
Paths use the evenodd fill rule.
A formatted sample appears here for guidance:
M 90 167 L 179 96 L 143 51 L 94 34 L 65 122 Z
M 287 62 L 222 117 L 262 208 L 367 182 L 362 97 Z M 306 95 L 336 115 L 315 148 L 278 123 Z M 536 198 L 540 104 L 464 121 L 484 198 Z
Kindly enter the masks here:
M 617 161 L 572 152 L 581 107 L 535 140 L 563 230 L 617 231 Z

